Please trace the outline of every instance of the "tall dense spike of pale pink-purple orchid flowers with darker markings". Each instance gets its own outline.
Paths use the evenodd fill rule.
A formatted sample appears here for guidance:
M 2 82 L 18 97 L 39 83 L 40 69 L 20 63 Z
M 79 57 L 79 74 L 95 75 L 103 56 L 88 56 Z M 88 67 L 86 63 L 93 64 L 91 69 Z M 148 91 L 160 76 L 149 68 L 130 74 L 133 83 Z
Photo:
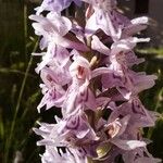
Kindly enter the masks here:
M 85 20 L 62 14 L 72 2 L 85 7 Z M 38 146 L 46 147 L 42 163 L 159 162 L 141 136 L 156 116 L 138 97 L 156 77 L 133 71 L 145 61 L 134 48 L 149 41 L 134 35 L 147 27 L 148 18 L 129 21 L 116 0 L 43 0 L 36 11 L 29 18 L 43 51 L 35 53 L 41 55 L 36 72 L 43 95 L 37 109 L 62 111 L 55 124 L 34 128 L 42 137 Z

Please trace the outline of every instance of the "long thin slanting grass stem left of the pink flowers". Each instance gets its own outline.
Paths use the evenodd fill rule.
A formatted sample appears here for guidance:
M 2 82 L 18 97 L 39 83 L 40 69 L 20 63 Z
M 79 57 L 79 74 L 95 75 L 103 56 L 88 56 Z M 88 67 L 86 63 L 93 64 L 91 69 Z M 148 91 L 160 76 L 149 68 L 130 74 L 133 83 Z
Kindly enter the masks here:
M 36 41 L 33 52 L 36 51 L 37 46 L 38 46 L 38 41 Z M 28 65 L 27 65 L 26 72 L 25 72 L 25 76 L 24 76 L 23 82 L 22 82 L 22 86 L 21 86 L 21 90 L 20 90 L 20 95 L 18 95 L 18 99 L 17 99 L 13 121 L 12 121 L 12 124 L 11 124 L 10 135 L 9 135 L 7 146 L 5 146 L 4 163 L 8 163 L 9 151 L 10 151 L 11 142 L 12 142 L 12 139 L 13 139 L 13 131 L 14 131 L 14 127 L 15 127 L 15 122 L 16 122 L 17 113 L 18 113 L 20 105 L 21 105 L 21 100 L 22 100 L 22 97 L 23 97 L 23 92 L 24 92 L 24 89 L 25 89 L 25 84 L 26 84 L 26 80 L 27 80 L 27 77 L 28 77 L 28 73 L 29 73 L 33 60 L 34 60 L 34 57 L 30 55 L 30 59 L 29 59 L 29 62 L 28 62 Z

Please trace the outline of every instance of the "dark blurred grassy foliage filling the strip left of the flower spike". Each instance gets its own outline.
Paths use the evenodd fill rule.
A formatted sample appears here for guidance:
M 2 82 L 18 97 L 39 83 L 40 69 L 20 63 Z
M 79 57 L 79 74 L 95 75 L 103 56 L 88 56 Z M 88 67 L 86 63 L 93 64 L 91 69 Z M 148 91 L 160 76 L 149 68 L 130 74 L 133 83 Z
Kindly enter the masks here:
M 4 10 L 10 10 L 9 2 L 0 3 L 3 7 L 5 4 Z M 9 35 L 5 34 L 4 27 L 10 24 L 10 18 L 3 15 L 7 18 L 3 17 L 5 24 L 0 32 L 3 36 L 0 39 L 0 162 L 14 162 L 20 151 L 24 162 L 35 163 L 38 162 L 40 148 L 36 147 L 37 138 L 32 127 L 41 117 L 36 110 L 40 99 L 39 78 L 35 73 L 38 59 L 34 59 L 30 53 L 37 50 L 38 39 L 32 37 L 32 27 L 27 25 L 30 24 L 27 21 L 30 13 L 27 3 L 21 2 L 17 5 L 13 5 L 13 11 L 20 14 L 20 28 L 15 28 L 17 25 L 13 22 Z M 30 8 L 34 9 L 34 5 Z M 10 13 L 12 15 L 16 13 Z

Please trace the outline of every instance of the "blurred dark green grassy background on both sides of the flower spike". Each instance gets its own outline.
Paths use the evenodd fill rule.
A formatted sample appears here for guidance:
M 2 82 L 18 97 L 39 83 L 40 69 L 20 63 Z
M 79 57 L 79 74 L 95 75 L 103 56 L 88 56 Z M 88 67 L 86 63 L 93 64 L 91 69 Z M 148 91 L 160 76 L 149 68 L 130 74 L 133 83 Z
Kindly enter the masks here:
M 32 128 L 36 121 L 52 122 L 51 112 L 59 112 L 38 114 L 36 109 L 41 99 L 35 73 L 39 58 L 30 53 L 39 49 L 28 15 L 37 5 L 38 0 L 0 0 L 0 163 L 18 163 L 16 156 L 24 163 L 39 163 L 43 149 L 36 146 L 39 138 Z M 127 13 L 129 7 L 125 2 L 122 9 Z M 137 70 L 159 76 L 156 85 L 140 97 L 146 108 L 162 114 L 154 128 L 145 128 L 145 136 L 153 140 L 150 152 L 163 159 L 163 46 L 139 45 L 136 52 L 147 60 Z

